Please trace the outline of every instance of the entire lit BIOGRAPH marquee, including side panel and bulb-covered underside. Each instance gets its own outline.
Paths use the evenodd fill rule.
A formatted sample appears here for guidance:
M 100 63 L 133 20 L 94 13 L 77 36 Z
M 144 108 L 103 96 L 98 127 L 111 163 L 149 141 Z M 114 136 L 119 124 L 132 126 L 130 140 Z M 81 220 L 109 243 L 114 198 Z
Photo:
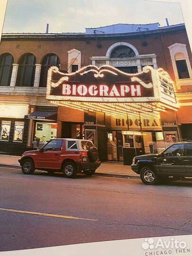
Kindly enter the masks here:
M 74 73 L 53 66 L 48 70 L 46 98 L 56 105 L 118 115 L 178 108 L 173 81 L 164 70 L 151 66 L 134 74 L 109 65 L 88 65 Z

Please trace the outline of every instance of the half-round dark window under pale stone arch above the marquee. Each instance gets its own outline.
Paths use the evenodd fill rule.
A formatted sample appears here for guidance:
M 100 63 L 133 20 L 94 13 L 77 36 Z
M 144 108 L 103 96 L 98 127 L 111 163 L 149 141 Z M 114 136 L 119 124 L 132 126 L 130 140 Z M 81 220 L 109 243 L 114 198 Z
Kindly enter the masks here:
M 135 56 L 136 54 L 133 49 L 128 46 L 118 46 L 110 54 L 110 58 L 129 58 Z

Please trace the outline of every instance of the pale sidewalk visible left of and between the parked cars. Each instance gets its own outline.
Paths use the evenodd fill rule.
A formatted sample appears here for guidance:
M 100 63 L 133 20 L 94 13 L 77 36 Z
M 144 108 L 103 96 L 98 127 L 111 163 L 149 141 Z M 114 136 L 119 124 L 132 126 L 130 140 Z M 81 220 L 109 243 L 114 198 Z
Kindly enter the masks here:
M 21 168 L 17 155 L 0 155 L 0 166 Z M 132 178 L 138 179 L 139 175 L 131 170 L 130 165 L 123 165 L 123 163 L 116 162 L 103 162 L 97 169 L 96 174 L 105 177 L 117 177 L 117 178 Z

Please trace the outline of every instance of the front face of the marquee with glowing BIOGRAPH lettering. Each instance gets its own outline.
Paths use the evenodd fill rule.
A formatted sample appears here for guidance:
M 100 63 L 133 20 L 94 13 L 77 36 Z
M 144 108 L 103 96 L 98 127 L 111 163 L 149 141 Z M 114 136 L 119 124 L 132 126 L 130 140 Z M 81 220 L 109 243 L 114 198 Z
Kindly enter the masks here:
M 87 102 L 158 101 L 155 71 L 128 74 L 115 67 L 89 65 L 74 73 L 51 67 L 47 77 L 47 99 Z

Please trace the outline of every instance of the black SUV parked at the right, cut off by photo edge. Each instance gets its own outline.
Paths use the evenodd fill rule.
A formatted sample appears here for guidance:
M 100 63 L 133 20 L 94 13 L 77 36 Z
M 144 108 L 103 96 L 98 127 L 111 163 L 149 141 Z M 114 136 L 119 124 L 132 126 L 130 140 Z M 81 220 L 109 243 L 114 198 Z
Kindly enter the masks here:
M 147 185 L 163 177 L 192 177 L 192 142 L 174 143 L 160 154 L 136 156 L 131 169 Z

